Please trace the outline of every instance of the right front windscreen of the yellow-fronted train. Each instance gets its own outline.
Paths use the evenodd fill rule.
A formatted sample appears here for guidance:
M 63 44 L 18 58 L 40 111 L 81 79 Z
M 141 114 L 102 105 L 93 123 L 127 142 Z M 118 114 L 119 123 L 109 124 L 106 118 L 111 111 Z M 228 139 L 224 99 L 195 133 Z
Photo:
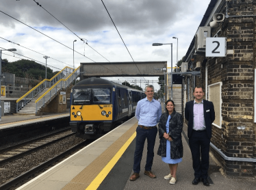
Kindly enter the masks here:
M 110 89 L 92 88 L 92 102 L 94 104 L 110 104 Z

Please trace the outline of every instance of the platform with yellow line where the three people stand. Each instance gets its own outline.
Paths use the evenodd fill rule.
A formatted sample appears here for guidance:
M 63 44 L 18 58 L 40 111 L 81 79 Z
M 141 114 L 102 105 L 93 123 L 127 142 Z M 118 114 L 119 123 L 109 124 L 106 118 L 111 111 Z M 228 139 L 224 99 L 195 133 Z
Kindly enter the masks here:
M 170 170 L 162 162 L 156 152 L 159 137 L 155 142 L 155 157 L 152 172 L 157 178 L 144 175 L 146 163 L 146 142 L 141 162 L 140 178 L 130 181 L 133 174 L 133 153 L 135 150 L 136 127 L 138 121 L 131 118 L 92 144 L 79 150 L 71 157 L 58 163 L 51 169 L 30 180 L 18 190 L 25 189 L 255 189 L 254 178 L 227 178 L 223 176 L 220 167 L 210 157 L 209 177 L 213 184 L 205 187 L 202 182 L 192 185 L 194 171 L 192 157 L 186 140 L 187 126 L 183 126 L 183 161 L 177 170 L 177 182 L 170 185 L 164 176 Z

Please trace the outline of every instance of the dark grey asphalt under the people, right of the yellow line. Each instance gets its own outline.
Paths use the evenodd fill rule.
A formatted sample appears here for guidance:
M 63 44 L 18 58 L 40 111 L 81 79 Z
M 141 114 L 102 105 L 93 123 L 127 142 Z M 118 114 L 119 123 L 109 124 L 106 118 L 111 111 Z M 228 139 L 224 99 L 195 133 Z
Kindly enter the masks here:
M 164 176 L 170 173 L 169 167 L 166 163 L 162 162 L 156 152 L 159 146 L 159 137 L 155 142 L 155 157 L 153 161 L 152 172 L 156 174 L 157 178 L 149 178 L 144 175 L 144 165 L 146 163 L 146 142 L 141 162 L 140 178 L 136 181 L 130 181 L 129 177 L 133 174 L 133 153 L 135 150 L 135 139 L 127 148 L 123 156 L 113 167 L 111 172 L 107 175 L 105 180 L 99 186 L 99 190 L 103 189 L 256 189 L 255 178 L 228 178 L 220 173 L 220 167 L 216 165 L 214 159 L 210 157 L 209 163 L 209 177 L 212 179 L 213 184 L 209 187 L 199 182 L 199 185 L 192 185 L 194 179 L 194 170 L 192 168 L 192 157 L 188 142 L 184 135 L 186 135 L 186 126 L 183 127 L 183 161 L 179 163 L 177 170 L 177 182 L 175 185 L 170 185 L 169 180 L 165 180 Z

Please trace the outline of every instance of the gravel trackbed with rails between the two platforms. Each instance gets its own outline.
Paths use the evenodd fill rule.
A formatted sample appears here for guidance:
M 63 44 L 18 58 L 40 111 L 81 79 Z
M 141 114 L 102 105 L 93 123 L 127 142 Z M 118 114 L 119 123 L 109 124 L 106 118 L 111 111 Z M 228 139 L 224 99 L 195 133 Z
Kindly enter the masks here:
M 16 189 L 86 143 L 69 129 L 0 150 L 0 190 Z

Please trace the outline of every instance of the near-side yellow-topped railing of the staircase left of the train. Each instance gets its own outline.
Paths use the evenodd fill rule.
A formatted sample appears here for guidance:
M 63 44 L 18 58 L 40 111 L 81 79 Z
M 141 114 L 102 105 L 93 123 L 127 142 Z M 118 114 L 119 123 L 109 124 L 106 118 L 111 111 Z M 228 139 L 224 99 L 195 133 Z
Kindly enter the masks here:
M 52 87 L 47 90 L 47 92 L 44 92 L 42 96 L 40 96 L 38 99 L 36 99 L 36 113 L 38 110 L 44 106 L 45 103 L 47 103 L 48 100 L 51 100 L 51 98 L 54 95 L 57 95 L 57 92 L 61 90 L 62 88 L 68 87 L 75 79 L 77 79 L 77 76 L 79 76 L 79 68 L 76 68 L 72 74 L 70 74 L 66 79 L 60 79 L 60 81 L 57 81 Z M 47 98 L 46 96 L 49 95 Z

